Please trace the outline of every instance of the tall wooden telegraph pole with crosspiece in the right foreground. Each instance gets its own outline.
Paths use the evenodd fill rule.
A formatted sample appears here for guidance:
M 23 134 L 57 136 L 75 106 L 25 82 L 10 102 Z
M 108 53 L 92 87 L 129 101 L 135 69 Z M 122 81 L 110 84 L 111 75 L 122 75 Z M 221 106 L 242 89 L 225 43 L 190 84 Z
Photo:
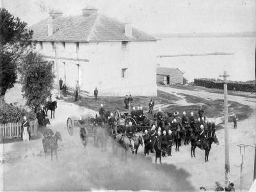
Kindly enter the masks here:
M 227 71 L 224 71 L 220 77 L 224 78 L 224 116 L 225 116 L 225 186 L 229 184 L 230 165 L 229 165 L 229 137 L 228 137 L 228 86 L 227 86 Z

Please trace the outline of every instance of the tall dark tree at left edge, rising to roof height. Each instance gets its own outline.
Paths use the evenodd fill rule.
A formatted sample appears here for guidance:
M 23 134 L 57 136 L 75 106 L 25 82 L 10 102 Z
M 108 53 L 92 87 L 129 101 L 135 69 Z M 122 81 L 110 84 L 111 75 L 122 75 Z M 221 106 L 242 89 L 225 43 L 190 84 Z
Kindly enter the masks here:
M 33 48 L 33 31 L 26 29 L 26 22 L 14 17 L 6 9 L 0 10 L 0 106 L 6 91 L 12 88 L 17 78 L 17 63 L 20 57 Z

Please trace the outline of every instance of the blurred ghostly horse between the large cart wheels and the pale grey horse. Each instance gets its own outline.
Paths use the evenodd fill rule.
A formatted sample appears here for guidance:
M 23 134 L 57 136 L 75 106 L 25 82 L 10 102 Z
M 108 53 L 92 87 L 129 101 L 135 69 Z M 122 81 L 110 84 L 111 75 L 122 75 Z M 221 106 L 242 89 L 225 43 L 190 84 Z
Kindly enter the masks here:
M 104 124 L 93 129 L 93 135 L 94 145 L 98 147 L 98 143 L 100 142 L 101 151 L 107 151 L 106 145 L 108 144 L 108 124 Z

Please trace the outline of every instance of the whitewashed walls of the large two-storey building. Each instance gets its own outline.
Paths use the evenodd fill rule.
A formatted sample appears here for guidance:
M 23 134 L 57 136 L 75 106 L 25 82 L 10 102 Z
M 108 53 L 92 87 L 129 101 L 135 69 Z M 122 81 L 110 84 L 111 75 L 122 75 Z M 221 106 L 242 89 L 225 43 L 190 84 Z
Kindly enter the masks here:
M 97 87 L 99 96 L 124 96 L 130 93 L 156 96 L 156 41 L 131 41 L 127 43 L 126 50 L 122 50 L 121 41 L 79 43 L 79 59 L 89 59 L 89 62 L 79 61 L 79 68 L 76 43 L 66 42 L 65 45 L 66 48 L 63 49 L 61 43 L 56 43 L 56 54 L 58 57 L 73 58 L 58 59 L 59 77 L 63 82 L 65 62 L 68 87 L 75 87 L 80 70 L 81 90 L 90 95 L 93 95 L 93 90 Z M 56 63 L 51 42 L 43 42 L 43 47 L 40 50 L 40 45 L 36 46 L 46 56 L 45 59 Z M 124 78 L 122 68 L 127 68 Z

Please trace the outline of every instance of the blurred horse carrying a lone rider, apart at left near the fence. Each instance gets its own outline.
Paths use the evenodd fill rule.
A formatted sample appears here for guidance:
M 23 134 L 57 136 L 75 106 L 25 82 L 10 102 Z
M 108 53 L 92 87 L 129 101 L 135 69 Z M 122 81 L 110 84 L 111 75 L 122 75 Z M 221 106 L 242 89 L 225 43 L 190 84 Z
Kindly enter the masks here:
M 47 149 L 51 150 L 51 160 L 52 160 L 52 151 L 55 151 L 56 159 L 58 160 L 58 154 L 57 154 L 57 148 L 58 148 L 58 140 L 62 141 L 60 132 L 56 131 L 55 135 L 53 137 L 49 138 L 43 138 L 42 143 L 44 147 L 44 153 L 45 153 L 45 159 L 46 159 L 46 152 Z

